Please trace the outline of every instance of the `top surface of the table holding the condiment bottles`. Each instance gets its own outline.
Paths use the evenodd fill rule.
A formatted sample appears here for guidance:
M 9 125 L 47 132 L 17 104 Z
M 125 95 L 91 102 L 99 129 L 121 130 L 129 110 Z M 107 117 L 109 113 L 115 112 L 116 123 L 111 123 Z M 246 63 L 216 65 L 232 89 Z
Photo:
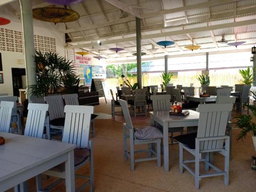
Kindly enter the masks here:
M 163 122 L 179 122 L 179 121 L 193 121 L 193 120 L 198 121 L 199 112 L 196 112 L 193 110 L 187 110 L 187 111 L 189 111 L 189 115 L 185 117 L 169 115 L 168 111 L 156 111 L 156 112 L 150 112 L 150 114 Z

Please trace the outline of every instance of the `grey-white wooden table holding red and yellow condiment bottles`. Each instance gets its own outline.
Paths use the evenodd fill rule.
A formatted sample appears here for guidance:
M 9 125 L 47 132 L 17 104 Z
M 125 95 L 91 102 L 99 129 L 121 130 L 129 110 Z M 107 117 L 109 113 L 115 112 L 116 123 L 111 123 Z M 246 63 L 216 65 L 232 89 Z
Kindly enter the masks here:
M 150 112 L 151 125 L 154 126 L 154 122 L 157 122 L 163 126 L 163 164 L 165 172 L 169 171 L 168 128 L 198 126 L 199 113 L 192 110 L 188 111 L 189 115 L 185 117 L 171 116 L 168 111 Z

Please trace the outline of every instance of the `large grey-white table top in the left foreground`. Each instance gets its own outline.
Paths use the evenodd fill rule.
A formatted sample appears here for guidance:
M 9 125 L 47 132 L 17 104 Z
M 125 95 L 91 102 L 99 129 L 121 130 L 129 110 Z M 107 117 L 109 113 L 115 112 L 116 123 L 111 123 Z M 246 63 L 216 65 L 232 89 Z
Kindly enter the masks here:
M 74 150 L 76 145 L 0 132 L 0 182 Z

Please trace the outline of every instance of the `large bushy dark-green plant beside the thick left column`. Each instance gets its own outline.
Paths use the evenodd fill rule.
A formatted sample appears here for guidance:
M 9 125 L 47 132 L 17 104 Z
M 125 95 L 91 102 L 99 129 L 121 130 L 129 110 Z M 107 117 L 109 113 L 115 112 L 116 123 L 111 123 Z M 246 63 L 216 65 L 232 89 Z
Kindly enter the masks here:
M 75 75 L 71 61 L 57 53 L 35 53 L 36 81 L 37 84 L 28 86 L 30 96 L 48 96 L 61 88 L 66 92 L 78 91 L 79 79 Z

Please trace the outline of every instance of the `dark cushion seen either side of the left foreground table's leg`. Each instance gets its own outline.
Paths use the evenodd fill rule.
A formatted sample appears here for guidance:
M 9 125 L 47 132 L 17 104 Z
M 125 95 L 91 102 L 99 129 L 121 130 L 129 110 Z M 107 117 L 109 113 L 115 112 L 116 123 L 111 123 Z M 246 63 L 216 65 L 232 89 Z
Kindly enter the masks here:
M 74 164 L 75 166 L 80 165 L 82 162 L 86 161 L 90 157 L 89 148 L 75 148 L 74 149 Z M 65 162 L 51 168 L 55 172 L 65 172 Z

